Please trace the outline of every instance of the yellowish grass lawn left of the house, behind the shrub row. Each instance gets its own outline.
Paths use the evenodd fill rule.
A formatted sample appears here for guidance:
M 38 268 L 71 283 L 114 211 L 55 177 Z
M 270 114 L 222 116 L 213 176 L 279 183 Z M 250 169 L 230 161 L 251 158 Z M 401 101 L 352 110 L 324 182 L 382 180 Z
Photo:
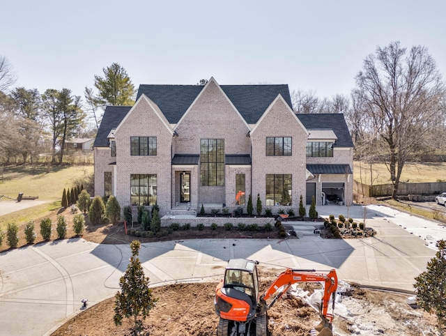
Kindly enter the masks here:
M 59 209 L 63 188 L 74 187 L 75 179 L 91 173 L 93 173 L 93 165 L 62 165 L 52 166 L 49 169 L 46 165 L 4 167 L 3 182 L 0 182 L 0 195 L 17 199 L 19 192 L 23 192 L 24 196 L 38 196 L 39 200 L 49 202 L 0 216 L 0 229 L 4 230 L 8 222 L 20 225 Z M 3 198 L 3 200 L 9 199 Z

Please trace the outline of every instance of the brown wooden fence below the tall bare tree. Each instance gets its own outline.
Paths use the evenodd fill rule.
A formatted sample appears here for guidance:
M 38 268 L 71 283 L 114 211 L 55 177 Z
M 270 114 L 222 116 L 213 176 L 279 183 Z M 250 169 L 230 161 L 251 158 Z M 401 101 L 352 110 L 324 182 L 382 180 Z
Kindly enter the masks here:
M 365 197 L 383 197 L 391 196 L 393 185 L 367 185 L 358 181 L 353 181 L 353 190 Z M 446 192 L 446 182 L 426 182 L 426 183 L 399 183 L 398 192 L 400 196 L 407 196 L 409 194 L 433 195 Z

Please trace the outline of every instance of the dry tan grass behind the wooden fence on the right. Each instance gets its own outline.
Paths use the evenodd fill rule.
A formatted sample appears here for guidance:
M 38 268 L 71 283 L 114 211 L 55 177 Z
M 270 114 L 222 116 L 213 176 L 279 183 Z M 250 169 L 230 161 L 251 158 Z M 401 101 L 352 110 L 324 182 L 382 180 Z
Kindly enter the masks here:
M 371 166 L 373 184 L 392 183 L 390 172 L 383 163 Z M 353 178 L 355 181 L 370 184 L 370 165 L 366 162 L 353 162 Z M 401 182 L 421 183 L 446 181 L 446 162 L 409 162 L 403 167 Z

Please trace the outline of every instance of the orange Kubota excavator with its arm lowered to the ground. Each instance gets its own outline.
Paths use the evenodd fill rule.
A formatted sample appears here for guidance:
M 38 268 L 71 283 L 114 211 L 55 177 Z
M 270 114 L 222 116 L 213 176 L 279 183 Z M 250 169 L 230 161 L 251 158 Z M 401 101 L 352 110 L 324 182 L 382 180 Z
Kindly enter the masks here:
M 220 316 L 217 336 L 266 336 L 267 311 L 296 282 L 323 282 L 324 293 L 319 306 L 321 323 L 314 327 L 317 336 L 332 336 L 333 315 L 328 305 L 337 290 L 335 270 L 318 273 L 315 270 L 288 268 L 272 282 L 265 293 L 259 293 L 259 261 L 231 259 L 226 266 L 224 279 L 215 289 L 215 312 Z M 267 301 L 270 300 L 269 303 Z

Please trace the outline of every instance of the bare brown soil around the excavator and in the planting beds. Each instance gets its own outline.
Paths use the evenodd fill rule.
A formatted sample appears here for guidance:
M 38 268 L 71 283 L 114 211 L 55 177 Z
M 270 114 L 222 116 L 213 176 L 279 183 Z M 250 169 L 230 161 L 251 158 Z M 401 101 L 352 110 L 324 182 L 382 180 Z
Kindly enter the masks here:
M 70 208 L 61 209 L 48 217 L 53 223 L 52 240 L 56 240 L 57 216 L 64 215 L 68 223 L 66 238 L 75 237 L 72 231 L 73 214 Z M 40 220 L 36 220 L 35 243 L 42 241 L 39 232 Z M 83 238 L 94 243 L 114 244 L 130 243 L 136 237 L 125 234 L 123 224 L 91 225 L 87 222 Z M 285 224 L 285 223 L 284 223 Z M 26 245 L 24 239 L 24 224 L 19 230 L 19 245 Z M 236 229 L 226 231 L 218 228 L 215 231 L 205 228 L 203 231 L 190 230 L 173 231 L 158 238 L 142 238 L 142 243 L 154 240 L 177 240 L 191 238 L 266 238 L 277 236 L 274 232 L 240 232 Z M 39 239 L 40 238 L 40 239 Z M 289 238 L 295 238 L 289 236 Z M 3 240 L 1 250 L 7 250 L 6 240 Z M 260 268 L 263 290 L 275 280 L 282 270 L 267 270 Z M 205 336 L 215 335 L 218 316 L 213 307 L 215 287 L 217 283 L 174 284 L 167 287 L 155 287 L 153 293 L 158 302 L 144 322 L 146 331 L 141 335 L 152 336 Z M 305 290 L 311 291 L 315 284 L 305 285 Z M 351 290 L 341 297 L 341 315 L 336 315 L 333 323 L 333 334 L 344 335 L 439 335 L 436 333 L 436 316 L 426 314 L 417 307 L 408 305 L 407 293 L 390 293 L 362 289 L 353 285 Z M 335 310 L 337 312 L 337 310 Z M 115 326 L 114 298 L 102 301 L 88 307 L 77 316 L 67 321 L 52 335 L 133 335 L 132 319 L 125 319 L 122 326 Z M 310 330 L 320 321 L 314 308 L 300 298 L 287 296 L 279 300 L 268 311 L 268 335 L 311 335 Z

